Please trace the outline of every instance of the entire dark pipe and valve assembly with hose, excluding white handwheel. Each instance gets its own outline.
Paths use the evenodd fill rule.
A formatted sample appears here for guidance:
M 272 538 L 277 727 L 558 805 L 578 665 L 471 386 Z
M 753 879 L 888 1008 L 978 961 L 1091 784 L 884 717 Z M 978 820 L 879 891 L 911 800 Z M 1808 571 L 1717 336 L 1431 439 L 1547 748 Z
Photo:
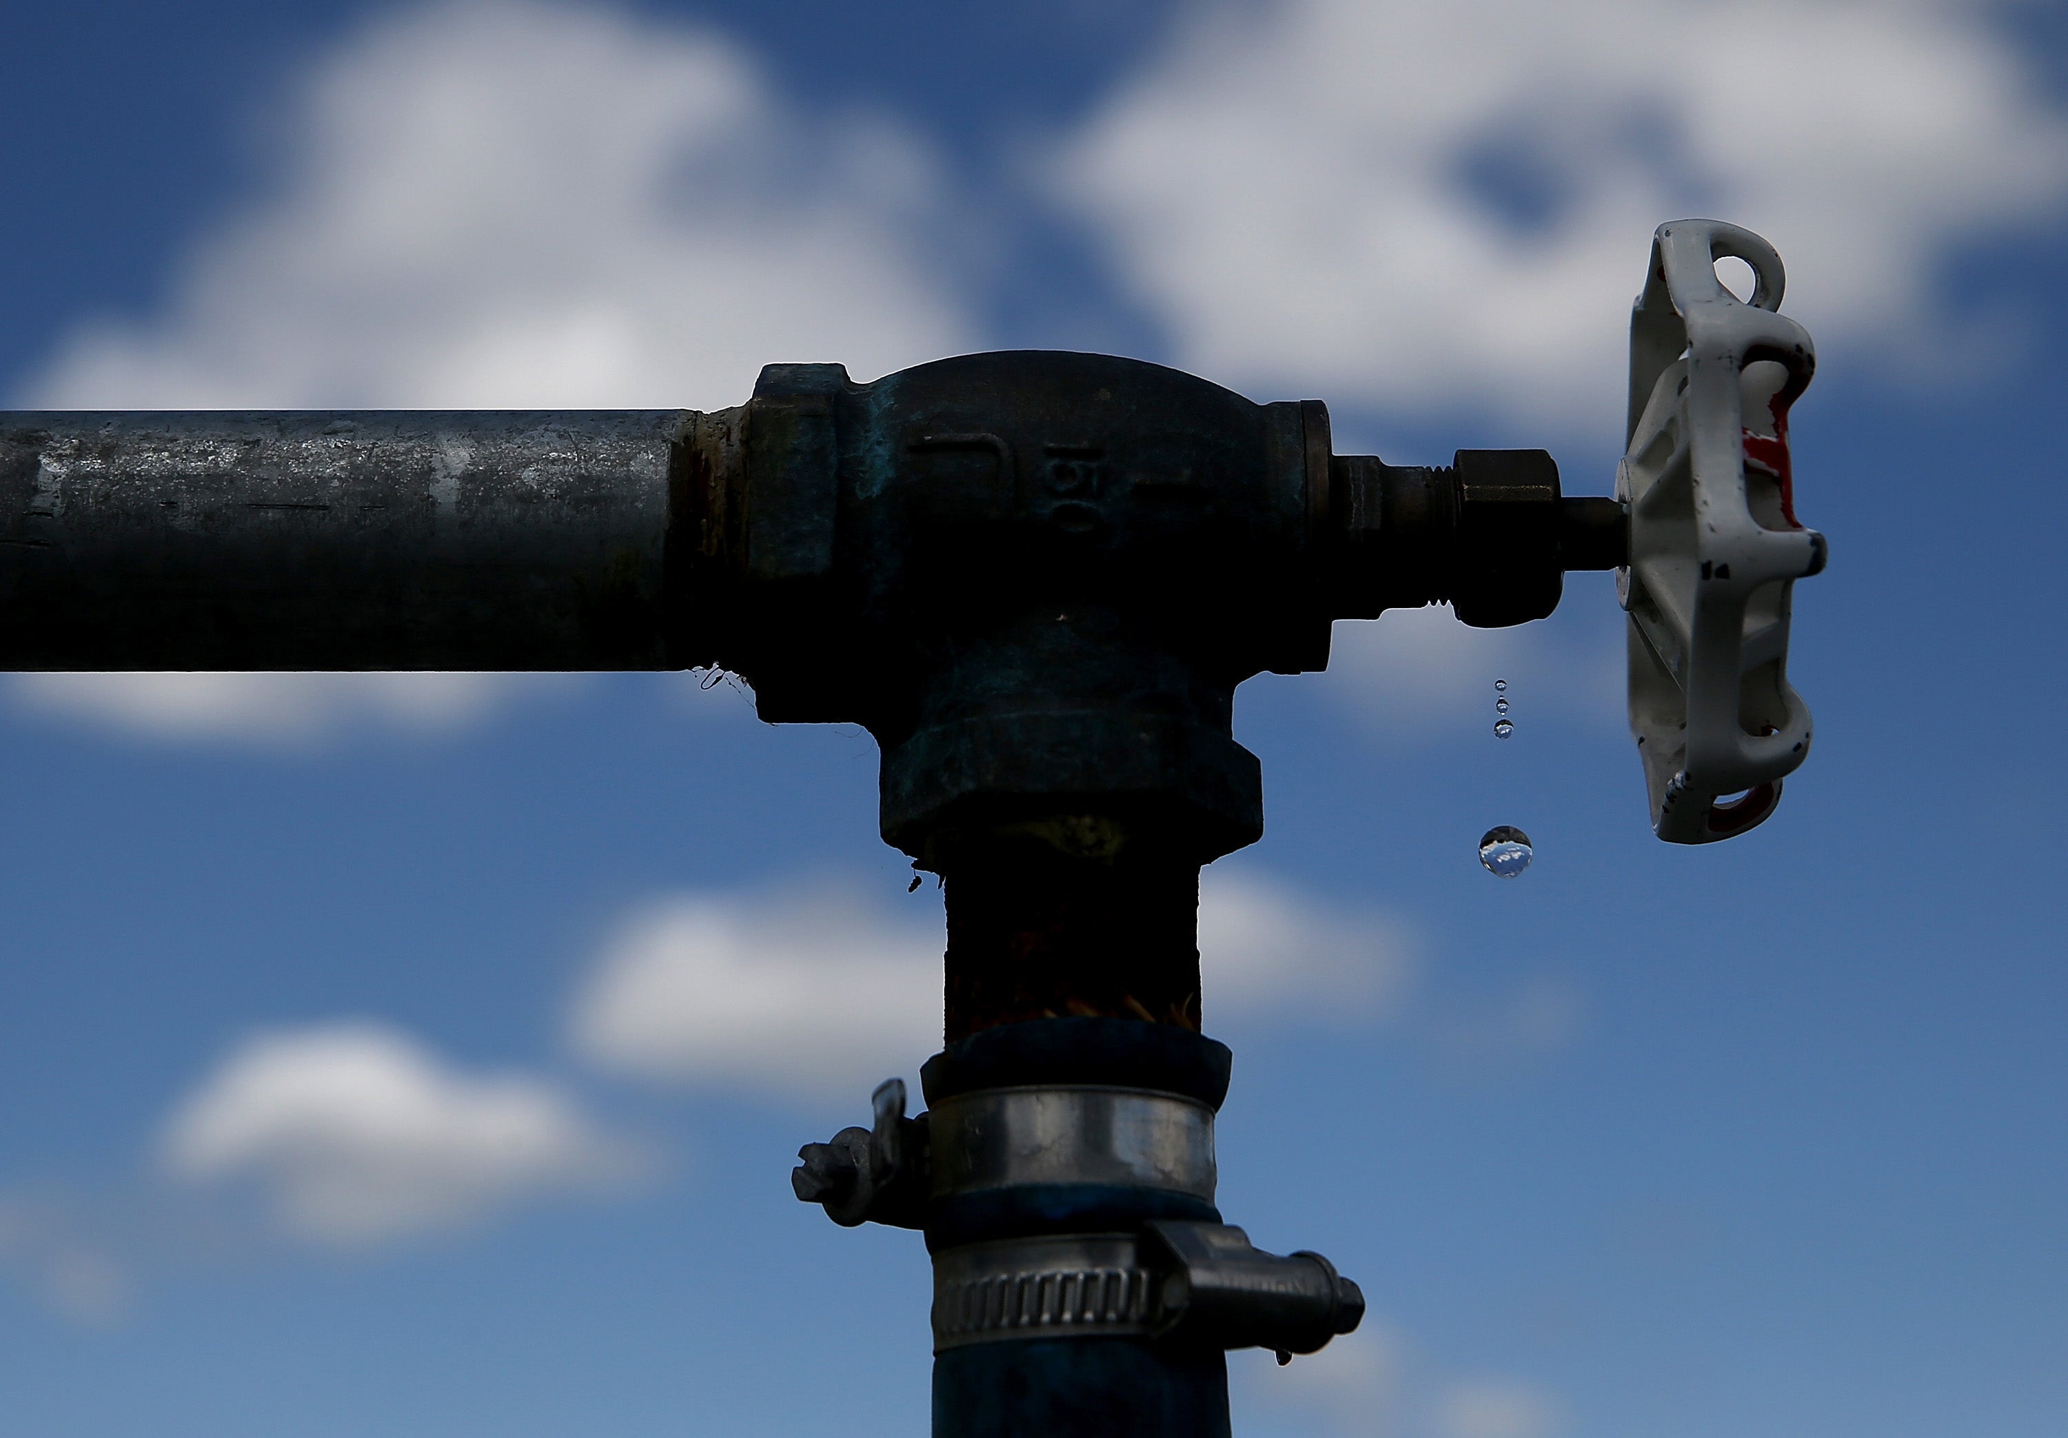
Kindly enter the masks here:
M 1084 354 L 782 364 L 718 414 L 17 414 L 0 670 L 716 662 L 769 722 L 862 722 L 947 883 L 947 1047 L 933 1113 L 885 1084 L 796 1194 L 924 1231 L 935 1438 L 1224 1438 L 1222 1349 L 1363 1312 L 1214 1206 L 1235 685 L 1392 604 L 1539 619 L 1619 519 L 1543 451 L 1340 457 L 1317 401 Z

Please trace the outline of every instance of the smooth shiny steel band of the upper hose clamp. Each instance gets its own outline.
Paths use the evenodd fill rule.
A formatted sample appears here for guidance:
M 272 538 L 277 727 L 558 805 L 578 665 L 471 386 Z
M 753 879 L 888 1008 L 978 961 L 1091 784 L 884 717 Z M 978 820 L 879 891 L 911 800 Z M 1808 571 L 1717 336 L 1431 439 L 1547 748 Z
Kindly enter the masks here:
M 1214 1200 L 1214 1111 L 1144 1088 L 980 1088 L 933 1105 L 933 1192 L 1123 1184 Z

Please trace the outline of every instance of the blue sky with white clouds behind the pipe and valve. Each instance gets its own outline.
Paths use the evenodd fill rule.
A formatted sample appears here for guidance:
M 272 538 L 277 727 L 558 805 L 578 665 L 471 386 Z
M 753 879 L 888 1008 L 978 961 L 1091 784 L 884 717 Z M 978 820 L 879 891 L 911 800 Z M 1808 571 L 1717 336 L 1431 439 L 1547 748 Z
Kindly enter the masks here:
M 1650 838 L 1607 575 L 1241 691 L 1222 1208 L 1371 1320 L 1239 1355 L 1237 1421 L 2068 1428 L 2058 8 L 79 4 L 6 43 L 14 406 L 718 408 L 1040 343 L 1607 492 L 1652 226 L 1766 234 L 1832 540 L 1772 821 Z M 682 677 L 14 677 L 0 774 L 0 1434 L 922 1430 L 916 1237 L 786 1184 L 937 1018 L 866 735 Z

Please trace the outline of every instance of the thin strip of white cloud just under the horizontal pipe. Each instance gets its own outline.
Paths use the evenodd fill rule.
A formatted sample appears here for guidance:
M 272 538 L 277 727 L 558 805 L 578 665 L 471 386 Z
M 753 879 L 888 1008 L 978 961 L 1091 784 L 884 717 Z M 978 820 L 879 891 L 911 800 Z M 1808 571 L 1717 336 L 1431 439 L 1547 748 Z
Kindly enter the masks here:
M 155 741 L 312 745 L 354 728 L 451 732 L 569 675 L 14 675 L 17 708 Z

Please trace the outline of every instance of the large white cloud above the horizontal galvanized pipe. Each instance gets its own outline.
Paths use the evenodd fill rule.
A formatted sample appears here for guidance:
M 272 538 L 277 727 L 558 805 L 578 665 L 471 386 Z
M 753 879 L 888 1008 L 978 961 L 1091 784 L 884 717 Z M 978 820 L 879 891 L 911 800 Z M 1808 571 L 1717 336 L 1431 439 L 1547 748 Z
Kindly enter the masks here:
M 910 132 L 738 48 L 525 0 L 405 10 L 296 89 L 285 166 L 145 319 L 74 329 L 56 408 L 740 403 L 769 360 L 964 348 Z

